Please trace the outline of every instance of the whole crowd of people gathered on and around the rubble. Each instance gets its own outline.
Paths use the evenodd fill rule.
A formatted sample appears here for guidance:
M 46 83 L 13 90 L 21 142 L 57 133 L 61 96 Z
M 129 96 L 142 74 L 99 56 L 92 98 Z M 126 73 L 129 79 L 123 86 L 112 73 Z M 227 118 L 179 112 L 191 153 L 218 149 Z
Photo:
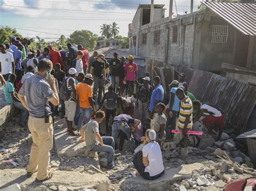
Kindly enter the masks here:
M 185 73 L 179 73 L 179 79 L 169 85 L 170 92 L 165 93 L 159 76 L 152 80 L 147 72 L 138 76 L 132 55 L 128 62 L 118 53 L 112 59 L 97 51 L 89 57 L 82 45 L 67 46 L 68 52 L 48 45 L 41 53 L 30 49 L 28 39 L 15 37 L 11 45 L 0 45 L 0 79 L 6 102 L 21 110 L 19 124 L 23 128 L 28 124 L 33 139 L 28 176 L 37 171 L 36 180 L 43 181 L 53 175 L 48 172 L 49 151 L 59 113 L 60 118 L 65 117 L 70 136 L 80 136 L 87 150 L 107 153 L 108 169 L 114 167 L 116 152 L 122 151 L 128 140 L 136 174 L 147 180 L 164 174 L 163 142 L 176 141 L 180 158 L 186 159 L 188 131 L 200 117 L 207 115 L 203 123 L 210 135 L 212 125 L 218 126 L 220 139 L 224 111 L 196 100 L 187 91 Z M 133 118 L 135 108 L 137 118 Z M 104 118 L 105 132 L 100 125 Z M 174 136 L 175 129 L 181 133 Z

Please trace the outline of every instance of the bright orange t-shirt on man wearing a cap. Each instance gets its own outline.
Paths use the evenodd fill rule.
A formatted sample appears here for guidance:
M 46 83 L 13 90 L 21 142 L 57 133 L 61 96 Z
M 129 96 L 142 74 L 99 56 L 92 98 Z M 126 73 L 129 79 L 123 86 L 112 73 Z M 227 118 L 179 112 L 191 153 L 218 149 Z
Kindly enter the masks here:
M 87 83 L 78 83 L 77 94 L 80 108 L 91 108 L 89 97 L 92 97 L 92 87 Z

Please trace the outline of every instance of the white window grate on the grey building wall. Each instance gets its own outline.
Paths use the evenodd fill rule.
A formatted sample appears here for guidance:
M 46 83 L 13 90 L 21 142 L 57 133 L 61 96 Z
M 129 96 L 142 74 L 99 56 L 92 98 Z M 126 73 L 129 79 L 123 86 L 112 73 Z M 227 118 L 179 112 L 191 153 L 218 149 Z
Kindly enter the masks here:
M 211 43 L 227 43 L 228 26 L 212 25 Z

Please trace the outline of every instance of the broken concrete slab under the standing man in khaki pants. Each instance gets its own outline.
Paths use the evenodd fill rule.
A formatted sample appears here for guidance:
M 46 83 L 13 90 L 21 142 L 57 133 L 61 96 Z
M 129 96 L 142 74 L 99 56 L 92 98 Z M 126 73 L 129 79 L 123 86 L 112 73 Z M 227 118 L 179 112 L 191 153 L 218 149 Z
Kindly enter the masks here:
M 47 190 L 51 186 L 64 186 L 73 190 L 108 190 L 110 181 L 103 174 L 86 174 L 79 172 L 65 172 L 55 171 L 53 172 L 52 179 L 44 182 L 36 182 L 36 173 L 28 178 L 26 176 L 26 170 L 21 168 L 4 169 L 0 171 L 0 189 L 12 185 L 14 182 L 21 186 L 22 190 L 35 190 L 40 186 L 40 190 Z

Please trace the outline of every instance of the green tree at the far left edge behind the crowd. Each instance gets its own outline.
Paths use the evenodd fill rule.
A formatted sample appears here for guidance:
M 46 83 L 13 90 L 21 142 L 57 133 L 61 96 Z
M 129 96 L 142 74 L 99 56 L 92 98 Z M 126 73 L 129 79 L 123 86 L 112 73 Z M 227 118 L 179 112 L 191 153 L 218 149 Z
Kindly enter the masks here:
M 9 26 L 0 26 L 0 44 L 10 43 L 11 36 L 23 38 L 15 28 Z

